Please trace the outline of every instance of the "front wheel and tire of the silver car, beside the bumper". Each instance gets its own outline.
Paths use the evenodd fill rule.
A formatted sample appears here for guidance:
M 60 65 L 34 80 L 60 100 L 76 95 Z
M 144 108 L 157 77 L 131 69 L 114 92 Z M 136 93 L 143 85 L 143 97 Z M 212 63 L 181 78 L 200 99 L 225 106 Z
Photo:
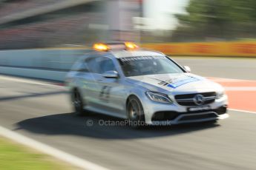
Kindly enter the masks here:
M 129 125 L 131 127 L 134 129 L 139 129 L 142 126 L 145 126 L 144 109 L 139 98 L 135 96 L 128 98 L 126 112 L 128 114 Z

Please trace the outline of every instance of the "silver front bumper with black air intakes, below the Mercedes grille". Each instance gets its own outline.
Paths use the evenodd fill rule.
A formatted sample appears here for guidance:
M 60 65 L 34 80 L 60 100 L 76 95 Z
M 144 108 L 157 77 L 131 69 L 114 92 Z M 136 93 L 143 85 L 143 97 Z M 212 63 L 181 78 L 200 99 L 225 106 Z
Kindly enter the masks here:
M 148 101 L 145 109 L 145 123 L 152 125 L 171 125 L 180 123 L 195 123 L 229 118 L 226 113 L 227 97 L 217 99 L 209 104 L 209 109 L 197 112 L 188 112 L 188 106 L 178 103 L 160 104 Z

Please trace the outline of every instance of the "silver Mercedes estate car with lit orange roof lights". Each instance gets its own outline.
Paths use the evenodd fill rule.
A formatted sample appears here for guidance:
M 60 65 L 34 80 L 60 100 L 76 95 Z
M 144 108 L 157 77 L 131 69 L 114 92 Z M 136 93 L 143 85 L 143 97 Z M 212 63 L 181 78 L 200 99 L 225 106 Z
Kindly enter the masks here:
M 92 111 L 151 125 L 229 117 L 220 84 L 191 74 L 162 52 L 128 42 L 93 47 L 65 81 L 76 115 Z

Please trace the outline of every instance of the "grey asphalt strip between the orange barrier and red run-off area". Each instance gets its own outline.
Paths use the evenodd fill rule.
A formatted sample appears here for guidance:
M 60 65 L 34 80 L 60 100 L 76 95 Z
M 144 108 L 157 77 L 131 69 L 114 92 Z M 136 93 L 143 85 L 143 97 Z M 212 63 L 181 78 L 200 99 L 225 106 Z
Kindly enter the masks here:
M 205 77 L 256 81 L 256 58 L 174 57 L 174 60 L 191 67 L 193 73 Z

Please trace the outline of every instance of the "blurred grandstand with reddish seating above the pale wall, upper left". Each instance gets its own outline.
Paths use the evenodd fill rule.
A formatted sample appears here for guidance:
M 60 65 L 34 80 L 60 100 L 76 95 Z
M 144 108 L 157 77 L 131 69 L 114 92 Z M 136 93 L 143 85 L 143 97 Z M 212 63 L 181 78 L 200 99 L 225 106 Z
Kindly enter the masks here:
M 109 2 L 0 0 L 0 50 L 85 45 L 108 40 L 111 23 L 108 11 L 116 10 L 113 5 L 109 8 Z M 114 16 L 119 13 L 114 12 Z

